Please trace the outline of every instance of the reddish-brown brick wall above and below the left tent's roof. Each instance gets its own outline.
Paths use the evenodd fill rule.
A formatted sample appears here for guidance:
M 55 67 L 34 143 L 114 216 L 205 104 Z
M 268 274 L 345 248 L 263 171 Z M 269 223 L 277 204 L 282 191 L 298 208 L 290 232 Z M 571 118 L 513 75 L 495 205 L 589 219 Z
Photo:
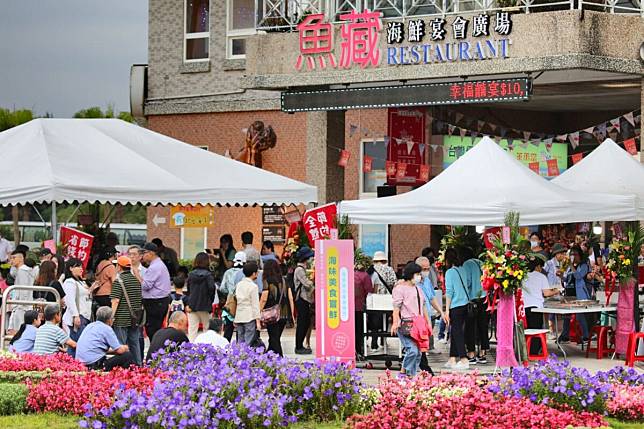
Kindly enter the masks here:
M 306 180 L 306 121 L 304 114 L 289 115 L 276 111 L 229 112 L 191 115 L 150 116 L 150 129 L 198 146 L 223 154 L 226 149 L 236 152 L 244 144 L 245 133 L 253 121 L 261 120 L 271 125 L 277 134 L 277 146 L 264 152 L 264 169 L 295 180 Z M 189 168 L 189 166 L 186 166 Z M 213 180 L 217 180 L 213 172 Z M 164 243 L 180 251 L 180 230 L 167 225 L 155 227 L 154 215 L 169 219 L 168 207 L 148 209 L 148 237 L 160 237 Z M 255 235 L 256 247 L 261 241 L 261 208 L 259 207 L 217 207 L 215 226 L 208 229 L 208 246 L 219 247 L 219 237 L 233 235 L 237 248 L 241 247 L 240 235 L 251 231 Z

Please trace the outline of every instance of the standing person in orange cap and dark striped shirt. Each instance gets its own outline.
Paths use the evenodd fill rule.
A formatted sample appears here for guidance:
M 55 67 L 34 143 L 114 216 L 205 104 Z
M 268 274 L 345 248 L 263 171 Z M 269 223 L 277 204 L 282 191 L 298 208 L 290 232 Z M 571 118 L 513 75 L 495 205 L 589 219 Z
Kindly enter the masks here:
M 116 260 L 116 279 L 110 294 L 112 308 L 112 329 L 116 338 L 129 347 L 136 365 L 143 363 L 143 356 L 139 347 L 141 329 L 139 321 L 132 319 L 132 313 L 141 309 L 141 283 L 132 273 L 132 261 L 127 256 L 119 256 Z M 127 293 L 128 300 L 125 298 Z M 130 309 L 131 307 L 131 309 Z

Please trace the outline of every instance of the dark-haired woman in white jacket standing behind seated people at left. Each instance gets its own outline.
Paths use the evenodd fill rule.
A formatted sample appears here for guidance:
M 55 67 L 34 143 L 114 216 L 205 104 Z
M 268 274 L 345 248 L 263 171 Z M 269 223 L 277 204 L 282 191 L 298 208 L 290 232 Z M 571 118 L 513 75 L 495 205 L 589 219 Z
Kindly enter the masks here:
M 67 310 L 63 315 L 63 329 L 69 333 L 69 337 L 78 341 L 81 332 L 92 315 L 92 300 L 89 294 L 89 288 L 83 281 L 83 263 L 80 259 L 71 258 L 65 265 L 65 281 L 63 282 L 63 291 L 65 291 L 65 306 Z M 76 351 L 72 348 L 67 349 L 68 353 L 75 357 Z

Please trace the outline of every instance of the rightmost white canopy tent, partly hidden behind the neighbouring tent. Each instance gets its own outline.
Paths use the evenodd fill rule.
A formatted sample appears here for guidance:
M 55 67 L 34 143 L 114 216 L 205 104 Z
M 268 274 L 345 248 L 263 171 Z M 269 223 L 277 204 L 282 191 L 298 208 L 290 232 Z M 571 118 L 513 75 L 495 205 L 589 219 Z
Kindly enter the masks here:
M 611 139 L 552 182 L 580 192 L 635 195 L 637 219 L 644 219 L 644 166 Z

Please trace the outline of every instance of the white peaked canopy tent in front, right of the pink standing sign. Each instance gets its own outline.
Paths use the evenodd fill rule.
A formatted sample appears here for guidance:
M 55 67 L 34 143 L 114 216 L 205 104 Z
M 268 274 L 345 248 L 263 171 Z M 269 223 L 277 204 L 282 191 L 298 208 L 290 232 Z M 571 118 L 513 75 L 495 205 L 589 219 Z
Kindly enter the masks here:
M 340 205 L 341 214 L 360 224 L 495 226 L 510 211 L 520 213 L 522 225 L 636 218 L 633 196 L 563 189 L 488 137 L 418 189 Z

